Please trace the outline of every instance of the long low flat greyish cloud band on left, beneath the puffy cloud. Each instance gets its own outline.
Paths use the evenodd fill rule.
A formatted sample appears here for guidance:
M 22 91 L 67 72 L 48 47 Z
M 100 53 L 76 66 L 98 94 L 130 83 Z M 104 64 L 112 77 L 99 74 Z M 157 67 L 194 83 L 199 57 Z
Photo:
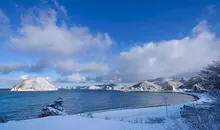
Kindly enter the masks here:
M 10 63 L 0 64 L 0 73 L 10 72 L 34 72 L 41 73 L 51 69 L 60 74 L 87 73 L 91 75 L 107 73 L 109 68 L 106 64 L 96 62 L 76 63 L 72 60 L 39 60 L 36 63 Z

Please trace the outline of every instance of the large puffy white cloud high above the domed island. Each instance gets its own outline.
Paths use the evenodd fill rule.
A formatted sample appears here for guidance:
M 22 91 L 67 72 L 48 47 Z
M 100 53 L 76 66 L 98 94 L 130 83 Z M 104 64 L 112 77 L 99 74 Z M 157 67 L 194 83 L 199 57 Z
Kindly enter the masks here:
M 108 33 L 91 34 L 87 27 L 58 24 L 53 9 L 29 13 L 21 28 L 10 38 L 12 46 L 24 52 L 70 55 L 103 50 L 112 44 Z

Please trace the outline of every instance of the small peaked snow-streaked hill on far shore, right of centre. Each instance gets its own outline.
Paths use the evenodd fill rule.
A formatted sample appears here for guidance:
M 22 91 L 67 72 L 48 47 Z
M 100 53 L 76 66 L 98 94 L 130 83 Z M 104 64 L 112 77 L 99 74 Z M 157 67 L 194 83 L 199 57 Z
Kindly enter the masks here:
M 149 81 L 144 81 L 132 86 L 138 91 L 162 91 L 162 87 Z

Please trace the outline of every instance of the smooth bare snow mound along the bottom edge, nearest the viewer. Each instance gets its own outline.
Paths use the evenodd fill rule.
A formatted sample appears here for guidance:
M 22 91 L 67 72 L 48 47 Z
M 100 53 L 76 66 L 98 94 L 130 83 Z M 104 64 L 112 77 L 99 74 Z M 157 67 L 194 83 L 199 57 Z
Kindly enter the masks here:
M 0 124 L 1 130 L 127 130 L 129 128 L 142 129 L 143 125 L 77 115 L 54 116 Z

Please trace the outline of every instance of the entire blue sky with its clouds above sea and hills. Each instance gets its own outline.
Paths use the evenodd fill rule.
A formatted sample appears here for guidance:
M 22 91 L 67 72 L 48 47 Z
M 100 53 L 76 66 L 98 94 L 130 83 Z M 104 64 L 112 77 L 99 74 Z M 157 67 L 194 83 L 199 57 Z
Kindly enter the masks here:
M 133 82 L 198 72 L 220 54 L 219 6 L 215 0 L 3 0 L 1 84 L 24 75 Z

